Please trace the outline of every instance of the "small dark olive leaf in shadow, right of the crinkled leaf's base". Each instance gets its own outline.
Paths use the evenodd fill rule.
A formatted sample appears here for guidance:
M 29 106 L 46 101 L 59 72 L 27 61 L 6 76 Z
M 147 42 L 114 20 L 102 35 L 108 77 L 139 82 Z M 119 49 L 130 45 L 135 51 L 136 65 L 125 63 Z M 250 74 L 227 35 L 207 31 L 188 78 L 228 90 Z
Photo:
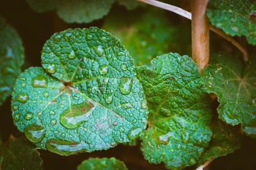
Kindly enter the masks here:
M 240 148 L 242 136 L 239 128 L 227 125 L 215 118 L 212 122 L 212 133 L 211 142 L 198 161 L 200 165 L 207 160 L 223 157 Z

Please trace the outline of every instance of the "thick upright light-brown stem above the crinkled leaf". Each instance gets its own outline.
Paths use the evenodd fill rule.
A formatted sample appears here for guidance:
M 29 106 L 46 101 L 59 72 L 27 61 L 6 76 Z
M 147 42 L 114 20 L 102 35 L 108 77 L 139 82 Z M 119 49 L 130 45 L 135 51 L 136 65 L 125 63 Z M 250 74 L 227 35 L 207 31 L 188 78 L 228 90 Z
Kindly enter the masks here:
M 200 72 L 210 59 L 209 19 L 206 16 L 207 0 L 192 1 L 192 58 Z

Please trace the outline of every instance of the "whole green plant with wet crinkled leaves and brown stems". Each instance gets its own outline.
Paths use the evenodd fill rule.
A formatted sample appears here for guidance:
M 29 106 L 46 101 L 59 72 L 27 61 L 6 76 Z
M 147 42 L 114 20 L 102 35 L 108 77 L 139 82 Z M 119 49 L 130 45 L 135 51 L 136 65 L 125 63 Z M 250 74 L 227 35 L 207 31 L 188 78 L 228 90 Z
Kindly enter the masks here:
M 43 169 L 37 150 L 69 156 L 118 144 L 140 147 L 145 160 L 167 169 L 203 169 L 237 150 L 243 136 L 255 138 L 255 1 L 175 2 L 192 14 L 154 0 L 116 1 L 132 11 L 111 11 L 102 29 L 54 33 L 42 67 L 22 73 L 22 43 L 0 18 L 0 104 L 12 92 L 13 122 L 26 136 L 0 140 L 0 169 Z M 115 1 L 27 2 L 84 23 L 107 15 Z M 211 34 L 210 46 L 210 29 L 231 43 Z M 112 157 L 77 169 L 127 167 Z

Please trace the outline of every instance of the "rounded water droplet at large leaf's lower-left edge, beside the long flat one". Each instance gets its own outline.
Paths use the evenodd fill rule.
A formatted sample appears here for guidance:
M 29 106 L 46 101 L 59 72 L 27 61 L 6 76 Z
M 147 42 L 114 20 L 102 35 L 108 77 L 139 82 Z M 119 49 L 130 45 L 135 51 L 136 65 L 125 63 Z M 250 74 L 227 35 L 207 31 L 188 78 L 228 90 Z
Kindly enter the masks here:
M 29 141 L 38 143 L 45 136 L 45 129 L 41 125 L 29 125 L 24 129 L 24 133 Z

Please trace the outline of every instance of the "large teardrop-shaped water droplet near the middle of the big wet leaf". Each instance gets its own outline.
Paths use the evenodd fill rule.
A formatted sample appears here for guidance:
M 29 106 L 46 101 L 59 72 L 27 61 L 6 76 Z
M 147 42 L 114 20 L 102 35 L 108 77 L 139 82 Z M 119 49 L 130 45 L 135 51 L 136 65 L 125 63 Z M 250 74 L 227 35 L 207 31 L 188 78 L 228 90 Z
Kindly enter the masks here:
M 88 121 L 94 109 L 95 106 L 89 101 L 71 106 L 71 108 L 68 108 L 68 110 L 61 113 L 60 122 L 64 127 L 74 129 L 79 127 L 83 122 Z

